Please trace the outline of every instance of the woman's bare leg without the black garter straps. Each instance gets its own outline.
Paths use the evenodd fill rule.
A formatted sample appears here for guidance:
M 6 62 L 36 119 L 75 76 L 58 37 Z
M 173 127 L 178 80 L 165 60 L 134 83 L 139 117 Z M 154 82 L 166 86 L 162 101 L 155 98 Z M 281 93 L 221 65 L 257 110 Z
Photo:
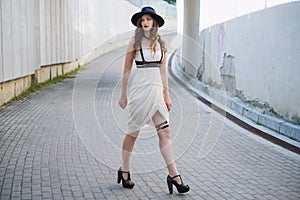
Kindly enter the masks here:
M 133 150 L 135 140 L 139 134 L 139 131 L 136 131 L 131 134 L 126 134 L 123 145 L 122 145 L 122 171 L 130 171 L 130 156 Z M 123 173 L 124 179 L 128 178 L 127 173 Z

